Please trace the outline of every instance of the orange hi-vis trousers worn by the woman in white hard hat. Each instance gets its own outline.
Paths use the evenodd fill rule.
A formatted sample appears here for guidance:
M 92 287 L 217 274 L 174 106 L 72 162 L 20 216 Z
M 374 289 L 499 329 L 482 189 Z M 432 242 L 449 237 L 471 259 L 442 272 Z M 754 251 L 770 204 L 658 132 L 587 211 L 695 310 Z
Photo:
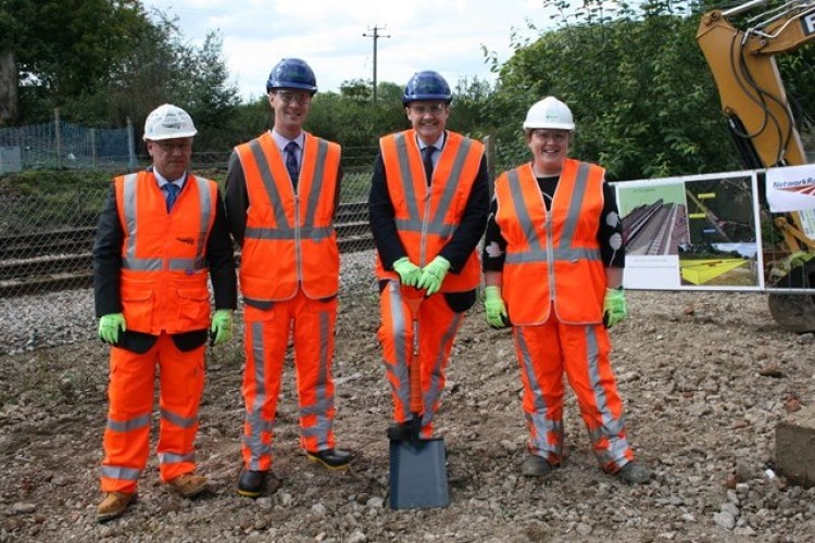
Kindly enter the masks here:
M 552 312 L 546 324 L 517 326 L 513 332 L 532 454 L 552 465 L 560 464 L 563 456 L 565 371 L 600 466 L 616 472 L 631 462 L 623 402 L 609 361 L 611 342 L 603 325 L 566 325 Z

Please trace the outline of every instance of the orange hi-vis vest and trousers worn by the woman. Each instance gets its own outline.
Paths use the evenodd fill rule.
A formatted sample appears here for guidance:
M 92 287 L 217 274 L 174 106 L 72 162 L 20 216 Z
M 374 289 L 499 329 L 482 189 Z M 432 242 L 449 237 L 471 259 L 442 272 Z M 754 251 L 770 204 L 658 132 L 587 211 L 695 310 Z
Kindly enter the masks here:
M 565 161 L 547 211 L 531 164 L 496 181 L 496 223 L 506 240 L 502 292 L 524 383 L 535 454 L 559 464 L 563 372 L 580 406 L 598 462 L 614 472 L 634 458 L 602 324 L 605 270 L 597 241 L 604 171 Z

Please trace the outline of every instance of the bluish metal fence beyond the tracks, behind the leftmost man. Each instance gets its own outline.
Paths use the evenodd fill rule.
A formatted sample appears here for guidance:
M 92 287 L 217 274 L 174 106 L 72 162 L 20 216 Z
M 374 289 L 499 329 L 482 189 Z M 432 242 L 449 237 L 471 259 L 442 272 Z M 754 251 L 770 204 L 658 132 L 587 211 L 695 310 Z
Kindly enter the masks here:
M 0 174 L 33 168 L 135 169 L 134 129 L 88 128 L 60 119 L 0 128 Z

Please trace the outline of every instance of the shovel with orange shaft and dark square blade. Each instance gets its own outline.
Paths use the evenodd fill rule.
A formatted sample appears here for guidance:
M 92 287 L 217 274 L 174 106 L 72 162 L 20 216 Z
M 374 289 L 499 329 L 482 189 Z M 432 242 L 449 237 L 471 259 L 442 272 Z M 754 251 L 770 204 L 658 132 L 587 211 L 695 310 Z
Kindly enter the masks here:
M 413 319 L 413 357 L 409 367 L 413 420 L 421 428 L 424 413 L 422 374 L 418 367 L 418 308 L 424 292 L 403 288 Z M 418 431 L 416 432 L 416 434 Z M 446 507 L 450 505 L 444 440 L 390 440 L 390 507 L 393 509 Z

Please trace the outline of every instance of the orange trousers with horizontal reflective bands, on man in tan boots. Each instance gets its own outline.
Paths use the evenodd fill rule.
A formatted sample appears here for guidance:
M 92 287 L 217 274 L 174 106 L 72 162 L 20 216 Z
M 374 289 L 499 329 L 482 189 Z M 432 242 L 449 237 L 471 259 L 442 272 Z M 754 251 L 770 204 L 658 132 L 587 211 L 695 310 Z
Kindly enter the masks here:
M 198 406 L 204 389 L 204 345 L 183 352 L 167 333 L 145 354 L 112 348 L 103 492 L 135 492 L 147 466 L 159 367 L 159 469 L 166 482 L 196 469 Z

